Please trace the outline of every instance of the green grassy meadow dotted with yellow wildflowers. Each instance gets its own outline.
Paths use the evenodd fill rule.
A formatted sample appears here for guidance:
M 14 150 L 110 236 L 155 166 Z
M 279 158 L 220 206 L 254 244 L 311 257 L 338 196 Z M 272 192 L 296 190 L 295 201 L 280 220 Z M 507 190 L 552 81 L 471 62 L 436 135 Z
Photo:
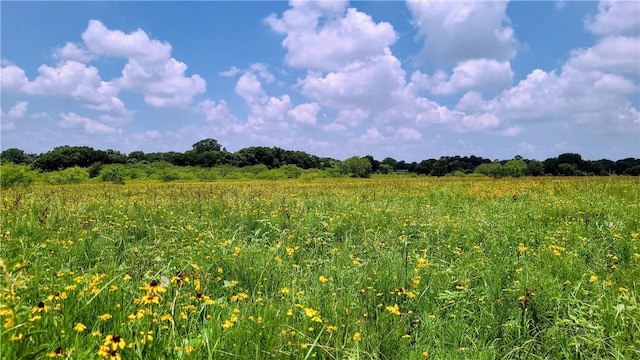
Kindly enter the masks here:
M 640 358 L 637 178 L 1 196 L 3 359 Z

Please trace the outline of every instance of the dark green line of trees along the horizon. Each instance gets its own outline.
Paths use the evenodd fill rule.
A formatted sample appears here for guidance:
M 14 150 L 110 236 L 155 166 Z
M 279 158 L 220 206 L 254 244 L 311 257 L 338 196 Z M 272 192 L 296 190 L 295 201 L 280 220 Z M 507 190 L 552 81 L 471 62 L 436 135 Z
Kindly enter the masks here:
M 165 163 L 179 167 L 254 167 L 268 170 L 288 166 L 288 169 L 330 170 L 338 175 L 368 177 L 372 173 L 388 174 L 407 172 L 430 176 L 464 176 L 476 174 L 490 177 L 519 176 L 606 176 L 640 175 L 640 159 L 626 158 L 617 161 L 608 159 L 583 160 L 580 154 L 565 153 L 544 161 L 524 159 L 516 156 L 509 160 L 490 160 L 477 156 L 443 156 L 407 163 L 387 157 L 382 161 L 373 156 L 351 157 L 344 161 L 318 157 L 303 151 L 291 151 L 278 147 L 252 146 L 236 151 L 227 151 L 215 139 L 205 139 L 193 144 L 192 149 L 180 152 L 144 153 L 134 151 L 123 154 L 116 150 L 95 150 L 88 146 L 60 146 L 42 154 L 27 154 L 11 148 L 0 154 L 2 163 L 29 165 L 32 170 L 42 172 L 60 171 L 81 167 L 87 168 L 90 177 L 100 175 L 103 167 L 110 164 Z

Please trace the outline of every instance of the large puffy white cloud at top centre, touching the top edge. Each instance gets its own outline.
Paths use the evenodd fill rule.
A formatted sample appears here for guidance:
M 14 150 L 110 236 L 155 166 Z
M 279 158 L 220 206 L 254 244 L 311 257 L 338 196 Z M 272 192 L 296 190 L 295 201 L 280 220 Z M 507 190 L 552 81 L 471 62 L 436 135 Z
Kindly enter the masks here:
M 292 67 L 316 71 L 339 70 L 354 61 L 383 55 L 398 36 L 387 22 L 375 23 L 344 2 L 292 1 L 282 18 L 271 14 L 267 24 L 286 34 L 282 46 Z

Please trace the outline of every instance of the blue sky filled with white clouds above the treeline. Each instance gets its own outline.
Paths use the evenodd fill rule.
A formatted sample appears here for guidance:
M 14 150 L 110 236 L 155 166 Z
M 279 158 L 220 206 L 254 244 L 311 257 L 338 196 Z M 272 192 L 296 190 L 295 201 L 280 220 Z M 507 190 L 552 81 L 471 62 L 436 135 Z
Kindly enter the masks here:
M 1 147 L 640 157 L 638 2 L 0 3 Z

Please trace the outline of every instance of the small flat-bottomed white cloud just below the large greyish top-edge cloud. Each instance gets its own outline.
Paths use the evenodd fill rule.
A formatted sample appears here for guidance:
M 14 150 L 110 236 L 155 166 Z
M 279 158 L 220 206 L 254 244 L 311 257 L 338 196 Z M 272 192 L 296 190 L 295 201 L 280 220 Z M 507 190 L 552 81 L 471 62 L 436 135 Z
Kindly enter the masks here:
M 513 71 L 508 61 L 492 59 L 474 59 L 459 63 L 446 82 L 434 85 L 434 94 L 451 94 L 456 92 L 496 91 L 511 86 Z

